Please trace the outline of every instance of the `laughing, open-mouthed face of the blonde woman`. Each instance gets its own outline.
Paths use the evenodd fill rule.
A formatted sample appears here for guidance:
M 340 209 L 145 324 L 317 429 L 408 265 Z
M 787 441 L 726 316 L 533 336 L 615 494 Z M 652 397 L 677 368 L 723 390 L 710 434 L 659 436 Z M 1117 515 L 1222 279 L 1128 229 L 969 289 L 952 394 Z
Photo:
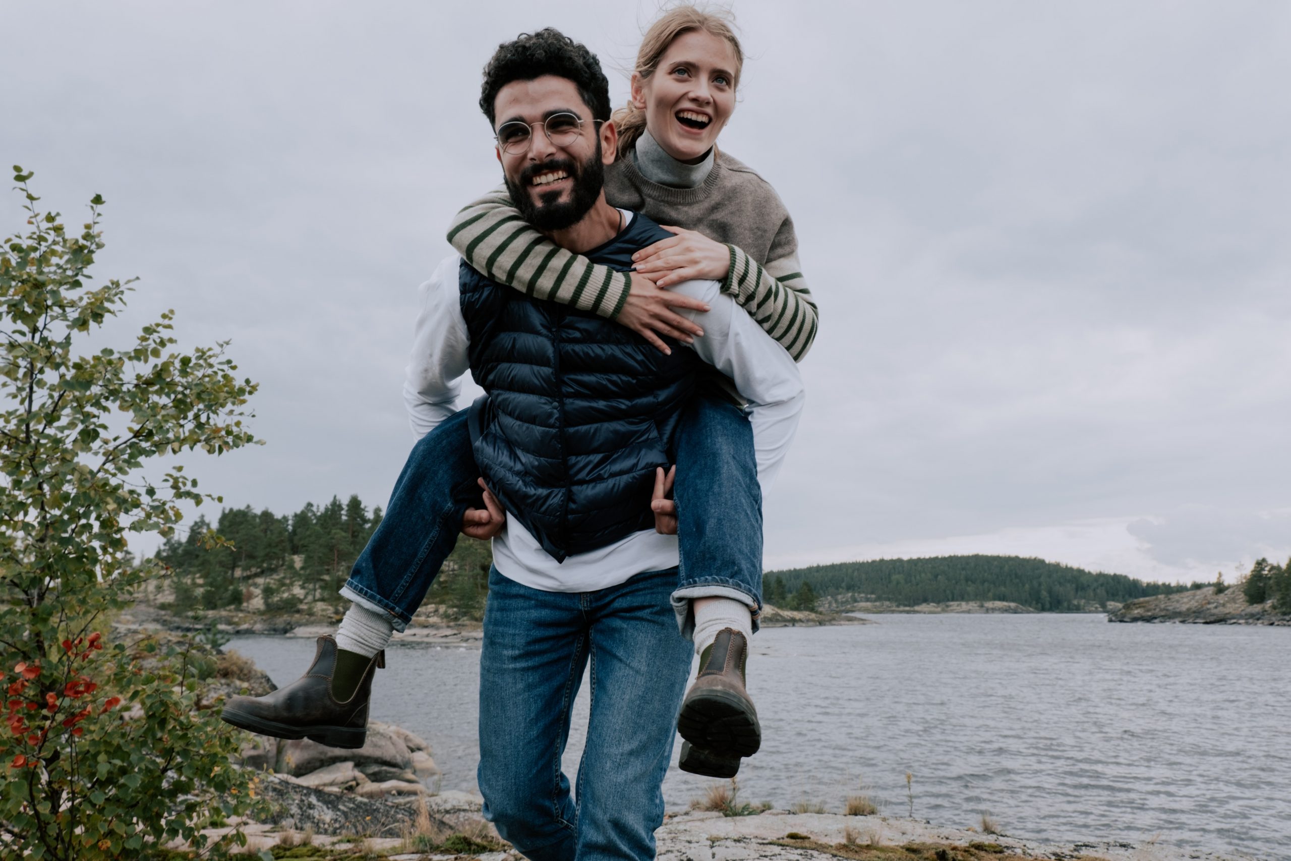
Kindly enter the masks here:
M 673 40 L 653 75 L 633 75 L 633 105 L 670 156 L 698 161 L 735 111 L 735 72 L 731 43 L 692 30 Z

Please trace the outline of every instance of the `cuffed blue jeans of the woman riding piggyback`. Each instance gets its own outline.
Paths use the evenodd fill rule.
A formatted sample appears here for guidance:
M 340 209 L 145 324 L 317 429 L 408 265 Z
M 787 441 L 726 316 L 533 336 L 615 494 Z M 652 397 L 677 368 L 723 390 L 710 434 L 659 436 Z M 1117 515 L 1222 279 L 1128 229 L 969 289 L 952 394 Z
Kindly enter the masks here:
M 478 478 L 463 409 L 413 447 L 341 594 L 404 630 L 456 546 L 466 509 L 483 507 Z M 742 409 L 715 395 L 691 400 L 676 431 L 674 498 L 682 564 L 673 605 L 683 634 L 693 627 L 689 600 L 709 595 L 749 604 L 758 630 L 762 488 Z

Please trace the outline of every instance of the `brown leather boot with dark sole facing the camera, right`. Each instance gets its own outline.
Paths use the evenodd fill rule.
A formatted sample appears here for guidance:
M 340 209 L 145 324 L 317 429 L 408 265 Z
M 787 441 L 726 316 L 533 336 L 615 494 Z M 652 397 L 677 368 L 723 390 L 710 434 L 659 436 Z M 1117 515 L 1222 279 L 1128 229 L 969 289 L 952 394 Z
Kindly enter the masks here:
M 744 634 L 731 627 L 718 631 L 700 654 L 700 674 L 682 701 L 676 729 L 709 759 L 751 756 L 762 746 L 758 710 L 744 689 L 747 656 Z

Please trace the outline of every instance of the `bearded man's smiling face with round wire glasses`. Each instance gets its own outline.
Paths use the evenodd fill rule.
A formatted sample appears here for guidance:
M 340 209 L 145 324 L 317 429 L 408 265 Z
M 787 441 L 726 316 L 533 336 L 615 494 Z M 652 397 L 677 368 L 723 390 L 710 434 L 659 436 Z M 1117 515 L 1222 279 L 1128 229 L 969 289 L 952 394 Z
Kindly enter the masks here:
M 604 165 L 615 160 L 613 128 L 608 123 L 593 123 L 591 110 L 578 96 L 578 88 L 569 79 L 555 75 L 511 81 L 498 90 L 493 110 L 494 132 L 507 123 L 529 124 L 528 146 L 523 151 L 497 150 L 515 208 L 538 230 L 556 231 L 576 225 L 596 203 Z M 582 120 L 580 133 L 562 145 L 553 143 L 537 125 L 558 114 L 573 114 Z

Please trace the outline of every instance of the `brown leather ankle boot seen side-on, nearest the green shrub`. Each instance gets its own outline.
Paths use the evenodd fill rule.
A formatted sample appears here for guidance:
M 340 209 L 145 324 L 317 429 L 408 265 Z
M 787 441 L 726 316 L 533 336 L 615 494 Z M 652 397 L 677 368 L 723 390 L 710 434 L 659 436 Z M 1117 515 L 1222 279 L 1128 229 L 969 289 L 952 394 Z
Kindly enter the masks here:
M 332 693 L 337 660 L 336 640 L 320 636 L 314 663 L 285 688 L 263 697 L 232 697 L 221 718 L 243 729 L 275 738 L 309 738 L 328 747 L 363 747 L 368 737 L 368 700 L 372 678 L 385 669 L 386 653 L 377 652 L 354 694 L 345 702 Z

